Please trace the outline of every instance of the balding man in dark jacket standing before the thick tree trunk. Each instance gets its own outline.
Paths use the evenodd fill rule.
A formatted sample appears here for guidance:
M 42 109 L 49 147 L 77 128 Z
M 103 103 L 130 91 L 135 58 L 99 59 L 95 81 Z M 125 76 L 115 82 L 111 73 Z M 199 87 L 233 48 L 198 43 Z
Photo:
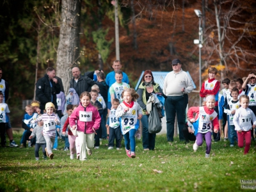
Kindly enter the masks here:
M 83 92 L 90 92 L 92 85 L 95 84 L 95 81 L 90 79 L 90 77 L 81 76 L 78 67 L 72 68 L 72 76 L 74 78 L 71 79 L 69 88 L 74 88 L 79 96 Z

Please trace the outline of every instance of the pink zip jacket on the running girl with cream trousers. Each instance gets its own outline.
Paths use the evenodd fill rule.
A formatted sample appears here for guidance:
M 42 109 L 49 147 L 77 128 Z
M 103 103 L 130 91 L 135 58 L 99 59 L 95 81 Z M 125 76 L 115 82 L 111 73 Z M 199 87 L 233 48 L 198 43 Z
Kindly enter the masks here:
M 79 111 L 92 111 L 92 122 L 81 122 L 79 120 Z M 73 113 L 69 117 L 69 125 L 70 127 L 73 127 L 73 125 L 76 125 L 77 120 L 77 131 L 81 131 L 87 134 L 93 133 L 93 129 L 99 129 L 100 127 L 100 114 L 98 110 L 92 106 L 92 104 L 88 104 L 86 108 L 82 106 L 80 103 L 79 106 L 73 111 Z

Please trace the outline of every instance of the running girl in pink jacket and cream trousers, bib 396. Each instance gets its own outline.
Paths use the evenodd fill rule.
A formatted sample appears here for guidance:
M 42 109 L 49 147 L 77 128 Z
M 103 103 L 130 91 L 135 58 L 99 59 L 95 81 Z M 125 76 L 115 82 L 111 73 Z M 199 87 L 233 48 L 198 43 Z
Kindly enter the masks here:
M 81 93 L 80 104 L 69 117 L 70 127 L 72 127 L 72 129 L 77 128 L 80 145 L 80 161 L 85 161 L 87 159 L 86 150 L 88 155 L 92 156 L 94 134 L 100 127 L 100 114 L 90 103 L 91 99 L 90 93 Z

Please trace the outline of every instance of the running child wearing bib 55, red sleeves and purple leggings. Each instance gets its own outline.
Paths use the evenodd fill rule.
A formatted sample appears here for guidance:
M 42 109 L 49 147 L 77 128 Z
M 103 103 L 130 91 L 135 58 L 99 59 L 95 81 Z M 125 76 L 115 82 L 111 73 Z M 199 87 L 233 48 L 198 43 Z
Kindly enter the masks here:
M 193 123 L 194 134 L 196 136 L 196 141 L 193 145 L 193 149 L 196 151 L 198 146 L 202 146 L 203 138 L 205 138 L 206 142 L 206 152 L 205 157 L 210 156 L 211 152 L 211 133 L 212 126 L 214 132 L 218 132 L 220 129 L 220 125 L 218 122 L 218 117 L 216 111 L 214 111 L 215 107 L 215 96 L 207 95 L 205 97 L 204 106 L 203 107 L 191 107 L 188 109 L 188 120 Z M 196 113 L 195 118 L 193 117 L 193 113 Z

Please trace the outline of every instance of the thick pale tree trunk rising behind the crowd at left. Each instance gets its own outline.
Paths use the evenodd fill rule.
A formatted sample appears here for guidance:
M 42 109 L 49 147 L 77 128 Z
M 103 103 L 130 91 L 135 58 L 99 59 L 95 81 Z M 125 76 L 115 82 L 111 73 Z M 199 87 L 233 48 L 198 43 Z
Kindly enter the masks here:
M 60 42 L 57 52 L 56 72 L 62 79 L 65 94 L 69 89 L 69 82 L 72 77 L 71 68 L 77 66 L 79 58 L 79 31 L 81 1 L 61 1 L 61 26 Z

